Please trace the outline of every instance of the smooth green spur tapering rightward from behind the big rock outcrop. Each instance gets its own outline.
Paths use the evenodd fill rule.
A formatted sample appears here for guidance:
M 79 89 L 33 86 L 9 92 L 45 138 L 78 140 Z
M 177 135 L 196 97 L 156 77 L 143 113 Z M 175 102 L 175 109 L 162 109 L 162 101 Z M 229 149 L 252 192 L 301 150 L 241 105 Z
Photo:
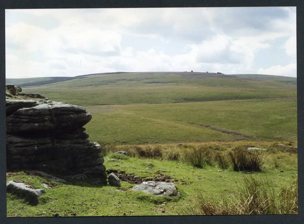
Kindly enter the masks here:
M 137 117 L 128 114 L 93 114 L 85 128 L 90 140 L 115 144 L 143 144 L 193 142 L 204 140 L 231 140 L 238 137 L 166 120 Z

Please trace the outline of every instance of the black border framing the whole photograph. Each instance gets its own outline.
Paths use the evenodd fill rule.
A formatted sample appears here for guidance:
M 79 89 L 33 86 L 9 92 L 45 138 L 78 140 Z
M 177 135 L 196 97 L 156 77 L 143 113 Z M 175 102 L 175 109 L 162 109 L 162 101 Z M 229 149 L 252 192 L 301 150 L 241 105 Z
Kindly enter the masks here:
M 6 145 L 5 145 L 5 9 L 59 8 L 162 8 L 162 7 L 258 7 L 296 6 L 297 19 L 297 115 L 298 115 L 298 215 L 164 215 L 104 217 L 6 217 Z M 304 1 L 302 0 L 162 0 L 162 1 L 101 1 L 101 0 L 0 0 L 0 223 L 301 223 L 304 220 L 303 149 L 304 149 Z

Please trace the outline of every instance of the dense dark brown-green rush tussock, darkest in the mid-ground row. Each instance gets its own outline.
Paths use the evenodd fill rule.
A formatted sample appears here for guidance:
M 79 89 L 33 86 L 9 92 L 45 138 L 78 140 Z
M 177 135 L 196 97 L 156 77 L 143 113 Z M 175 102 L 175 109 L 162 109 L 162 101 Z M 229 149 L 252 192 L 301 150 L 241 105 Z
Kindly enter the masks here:
M 235 171 L 260 171 L 265 153 L 260 150 L 247 150 L 247 146 L 241 146 L 231 150 L 229 156 Z

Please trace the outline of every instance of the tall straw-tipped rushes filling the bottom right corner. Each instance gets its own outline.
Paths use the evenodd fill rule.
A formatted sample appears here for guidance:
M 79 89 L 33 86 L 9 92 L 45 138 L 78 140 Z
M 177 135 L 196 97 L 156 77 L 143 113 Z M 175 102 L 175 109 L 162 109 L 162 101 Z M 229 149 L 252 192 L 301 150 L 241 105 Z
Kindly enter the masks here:
M 297 214 L 298 181 L 276 192 L 268 180 L 244 178 L 238 194 L 222 195 L 218 201 L 212 196 L 197 195 L 195 205 L 182 211 L 185 215 L 258 215 Z

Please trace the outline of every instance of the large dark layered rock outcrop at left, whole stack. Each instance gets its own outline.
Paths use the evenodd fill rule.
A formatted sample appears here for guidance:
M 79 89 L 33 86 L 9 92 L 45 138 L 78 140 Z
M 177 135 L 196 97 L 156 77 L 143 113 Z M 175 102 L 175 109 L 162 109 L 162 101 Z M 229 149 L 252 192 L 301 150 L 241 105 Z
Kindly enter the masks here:
M 7 169 L 85 174 L 106 183 L 100 145 L 83 128 L 91 119 L 71 104 L 6 100 Z

